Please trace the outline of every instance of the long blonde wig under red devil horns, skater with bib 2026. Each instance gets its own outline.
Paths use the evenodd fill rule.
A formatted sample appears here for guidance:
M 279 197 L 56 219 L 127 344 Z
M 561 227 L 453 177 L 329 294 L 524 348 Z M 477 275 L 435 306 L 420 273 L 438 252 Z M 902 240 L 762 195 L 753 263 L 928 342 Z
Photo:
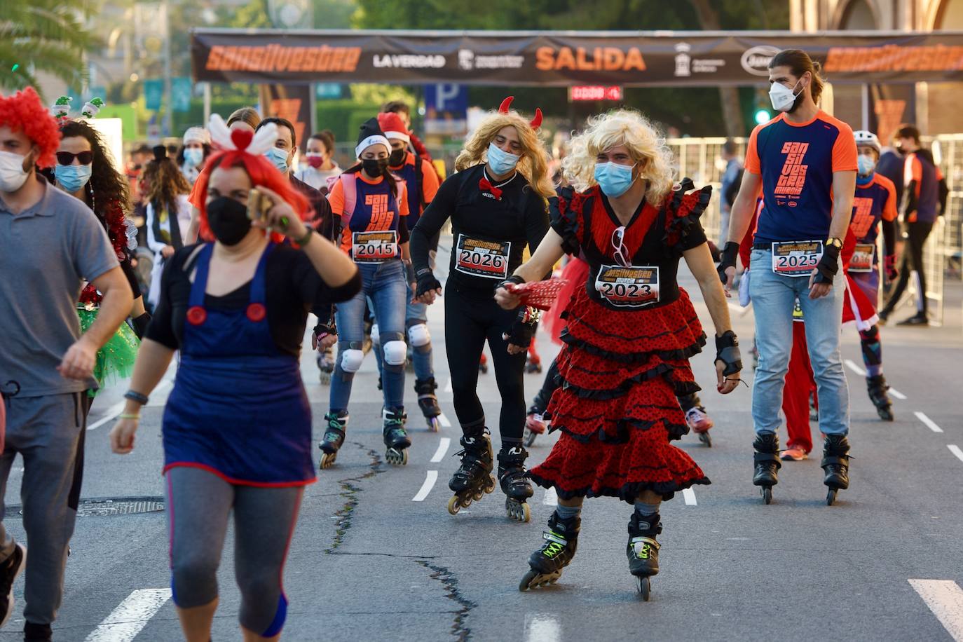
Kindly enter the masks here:
M 555 195 L 555 187 L 548 175 L 548 152 L 528 120 L 517 112 L 508 114 L 494 113 L 481 121 L 479 128 L 465 143 L 464 149 L 455 159 L 455 171 L 481 165 L 487 159 L 488 144 L 505 126 L 511 125 L 518 132 L 518 143 L 522 146 L 522 158 L 518 161 L 518 171 L 529 181 L 534 191 L 544 198 Z

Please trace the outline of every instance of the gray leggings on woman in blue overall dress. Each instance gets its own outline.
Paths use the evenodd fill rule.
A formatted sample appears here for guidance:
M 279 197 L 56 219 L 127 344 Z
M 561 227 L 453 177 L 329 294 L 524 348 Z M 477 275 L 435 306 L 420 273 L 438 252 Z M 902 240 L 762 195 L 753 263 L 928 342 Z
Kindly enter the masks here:
M 218 566 L 233 508 L 241 626 L 264 637 L 276 635 L 287 612 L 281 574 L 303 488 L 234 485 L 184 466 L 171 468 L 167 481 L 174 603 L 193 608 L 218 597 Z

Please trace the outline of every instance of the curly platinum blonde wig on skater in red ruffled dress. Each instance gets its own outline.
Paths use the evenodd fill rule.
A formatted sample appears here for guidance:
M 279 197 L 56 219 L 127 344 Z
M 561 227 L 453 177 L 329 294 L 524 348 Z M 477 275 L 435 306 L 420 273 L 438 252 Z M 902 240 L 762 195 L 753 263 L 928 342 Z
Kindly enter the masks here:
M 617 110 L 588 118 L 586 130 L 572 137 L 561 161 L 565 179 L 579 190 L 595 182 L 595 159 L 600 152 L 625 145 L 638 166 L 638 180 L 649 183 L 645 198 L 659 207 L 672 191 L 675 177 L 672 151 L 660 132 L 633 110 Z M 641 167 L 638 169 L 638 167 Z

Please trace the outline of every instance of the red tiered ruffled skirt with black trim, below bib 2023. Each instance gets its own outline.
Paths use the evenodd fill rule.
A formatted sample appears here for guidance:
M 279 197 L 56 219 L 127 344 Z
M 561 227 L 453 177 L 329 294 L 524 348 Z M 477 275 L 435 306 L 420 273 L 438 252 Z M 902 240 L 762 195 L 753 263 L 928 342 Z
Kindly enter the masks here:
M 559 441 L 531 476 L 563 499 L 671 499 L 709 479 L 669 441 L 689 432 L 678 396 L 700 390 L 690 356 L 705 346 L 689 295 L 658 308 L 612 311 L 585 288 L 563 314 L 560 388 L 547 414 Z

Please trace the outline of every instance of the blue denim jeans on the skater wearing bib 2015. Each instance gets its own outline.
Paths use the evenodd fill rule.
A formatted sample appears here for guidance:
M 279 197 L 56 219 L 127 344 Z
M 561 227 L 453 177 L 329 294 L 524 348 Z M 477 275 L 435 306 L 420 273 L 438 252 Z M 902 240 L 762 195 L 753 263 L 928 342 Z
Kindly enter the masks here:
M 360 350 L 364 341 L 364 308 L 366 299 L 372 302 L 375 322 L 380 332 L 382 351 L 386 344 L 393 341 L 404 342 L 404 302 L 408 294 L 405 285 L 404 267 L 401 260 L 395 259 L 381 264 L 360 264 L 361 291 L 350 301 L 338 303 L 335 319 L 338 323 L 338 357 L 335 361 L 334 376 L 331 377 L 330 409 L 334 412 L 348 409 L 351 398 L 353 372 L 343 368 L 346 353 Z M 354 353 L 356 356 L 356 353 Z M 383 357 L 383 353 L 380 355 Z M 384 366 L 381 375 L 384 392 L 384 405 L 387 408 L 400 408 L 404 403 L 404 363 Z

